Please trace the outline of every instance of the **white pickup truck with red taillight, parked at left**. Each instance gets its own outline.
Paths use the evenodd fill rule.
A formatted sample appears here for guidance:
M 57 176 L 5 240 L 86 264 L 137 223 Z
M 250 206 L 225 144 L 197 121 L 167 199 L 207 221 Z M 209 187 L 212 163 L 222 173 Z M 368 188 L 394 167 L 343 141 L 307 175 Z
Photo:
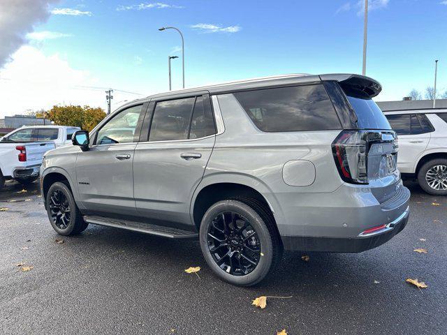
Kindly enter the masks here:
M 48 150 L 71 144 L 80 128 L 67 126 L 24 126 L 0 140 L 0 189 L 5 180 L 29 184 L 38 178 L 43 155 Z

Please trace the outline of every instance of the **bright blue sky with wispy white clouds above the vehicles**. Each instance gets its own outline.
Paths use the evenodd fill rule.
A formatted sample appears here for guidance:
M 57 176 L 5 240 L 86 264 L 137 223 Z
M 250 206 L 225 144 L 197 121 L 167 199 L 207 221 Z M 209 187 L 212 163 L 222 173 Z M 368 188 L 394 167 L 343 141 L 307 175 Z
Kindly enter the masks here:
M 177 32 L 157 30 L 170 25 L 184 33 L 186 87 L 282 73 L 361 73 L 362 1 L 160 1 L 52 3 L 30 45 L 85 73 L 87 84 L 77 86 L 144 95 L 168 89 L 167 57 L 181 55 Z M 447 1 L 369 1 L 367 75 L 383 85 L 377 100 L 432 86 L 434 59 L 439 91 L 446 91 Z M 173 88 L 181 88 L 181 59 L 173 60 Z M 103 90 L 78 91 L 89 96 L 86 103 L 105 106 Z M 117 92 L 115 101 L 136 97 Z

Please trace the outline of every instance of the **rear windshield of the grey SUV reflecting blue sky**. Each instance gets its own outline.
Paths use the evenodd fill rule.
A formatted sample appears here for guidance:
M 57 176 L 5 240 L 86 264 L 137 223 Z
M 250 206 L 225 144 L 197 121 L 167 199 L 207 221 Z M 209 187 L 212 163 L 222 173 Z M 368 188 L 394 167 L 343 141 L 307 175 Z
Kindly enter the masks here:
M 349 103 L 357 114 L 360 129 L 391 129 L 385 115 L 369 96 L 347 94 Z

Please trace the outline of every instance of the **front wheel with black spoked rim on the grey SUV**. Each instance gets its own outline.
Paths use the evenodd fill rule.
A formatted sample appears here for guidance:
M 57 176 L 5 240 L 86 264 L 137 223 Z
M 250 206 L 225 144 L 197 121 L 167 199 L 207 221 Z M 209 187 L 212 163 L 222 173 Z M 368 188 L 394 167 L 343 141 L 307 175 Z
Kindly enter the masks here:
M 82 219 L 68 183 L 57 181 L 52 184 L 47 192 L 46 204 L 52 228 L 60 235 L 79 234 L 89 225 Z

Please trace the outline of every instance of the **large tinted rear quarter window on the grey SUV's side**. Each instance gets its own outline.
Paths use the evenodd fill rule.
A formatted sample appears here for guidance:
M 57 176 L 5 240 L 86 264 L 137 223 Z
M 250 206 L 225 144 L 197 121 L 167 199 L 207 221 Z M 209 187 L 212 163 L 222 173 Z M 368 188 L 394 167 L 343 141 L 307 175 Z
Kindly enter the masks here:
M 322 84 L 242 91 L 234 96 L 261 131 L 342 128 Z

